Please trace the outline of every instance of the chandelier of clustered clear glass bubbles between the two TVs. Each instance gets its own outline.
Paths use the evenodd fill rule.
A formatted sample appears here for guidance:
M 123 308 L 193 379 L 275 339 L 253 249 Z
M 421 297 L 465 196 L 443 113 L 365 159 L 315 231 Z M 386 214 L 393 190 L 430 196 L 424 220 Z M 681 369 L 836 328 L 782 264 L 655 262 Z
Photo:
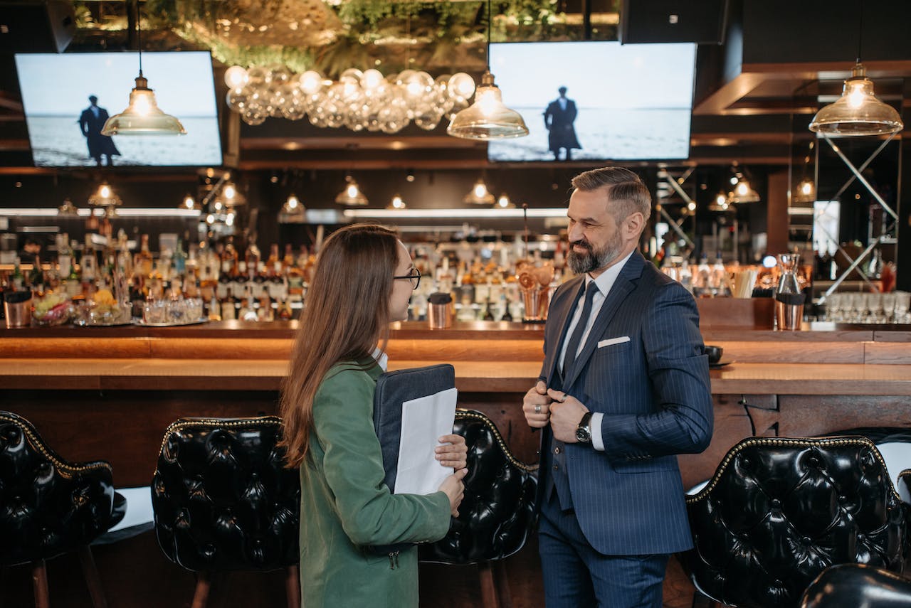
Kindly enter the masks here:
M 285 66 L 231 66 L 225 83 L 228 106 L 248 125 L 269 117 L 307 117 L 315 127 L 384 133 L 397 133 L 411 122 L 431 131 L 468 107 L 475 93 L 474 78 L 464 72 L 434 78 L 415 70 L 383 76 L 375 69 L 350 68 L 329 80 L 312 70 L 293 74 Z

